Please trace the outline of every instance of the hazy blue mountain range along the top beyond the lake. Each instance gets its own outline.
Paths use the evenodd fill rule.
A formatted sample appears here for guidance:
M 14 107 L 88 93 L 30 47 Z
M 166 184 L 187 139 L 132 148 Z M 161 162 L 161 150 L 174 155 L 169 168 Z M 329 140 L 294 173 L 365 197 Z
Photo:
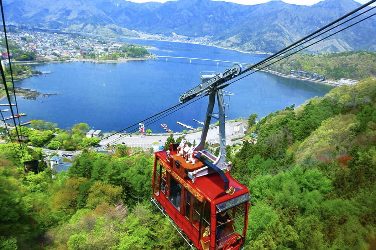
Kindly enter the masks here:
M 312 6 L 282 1 L 248 6 L 210 0 L 163 4 L 124 0 L 4 0 L 3 4 L 8 24 L 101 34 L 114 31 L 119 36 L 136 36 L 130 30 L 164 36 L 173 33 L 207 36 L 215 45 L 252 52 L 276 52 L 360 6 L 353 0 L 326 0 Z M 106 27 L 109 24 L 112 26 Z M 309 50 L 376 51 L 375 30 L 373 17 Z

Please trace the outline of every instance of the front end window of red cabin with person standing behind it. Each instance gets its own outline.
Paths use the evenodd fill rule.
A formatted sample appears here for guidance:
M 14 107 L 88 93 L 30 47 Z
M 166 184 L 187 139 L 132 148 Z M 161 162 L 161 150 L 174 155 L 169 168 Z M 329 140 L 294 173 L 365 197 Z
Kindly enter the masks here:
M 215 241 L 217 249 L 224 246 L 227 240 L 244 236 L 246 223 L 247 202 L 232 206 L 227 210 L 217 213 L 217 225 L 215 229 Z M 217 205 L 218 207 L 218 205 Z M 229 240 L 229 241 L 231 241 Z

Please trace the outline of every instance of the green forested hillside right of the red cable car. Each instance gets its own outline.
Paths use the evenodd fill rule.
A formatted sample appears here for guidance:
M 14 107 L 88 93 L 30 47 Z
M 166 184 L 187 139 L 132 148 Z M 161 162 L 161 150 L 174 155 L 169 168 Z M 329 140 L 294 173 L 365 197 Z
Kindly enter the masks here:
M 368 249 L 376 237 L 376 79 L 340 87 L 250 129 L 234 157 L 249 187 L 246 249 Z

